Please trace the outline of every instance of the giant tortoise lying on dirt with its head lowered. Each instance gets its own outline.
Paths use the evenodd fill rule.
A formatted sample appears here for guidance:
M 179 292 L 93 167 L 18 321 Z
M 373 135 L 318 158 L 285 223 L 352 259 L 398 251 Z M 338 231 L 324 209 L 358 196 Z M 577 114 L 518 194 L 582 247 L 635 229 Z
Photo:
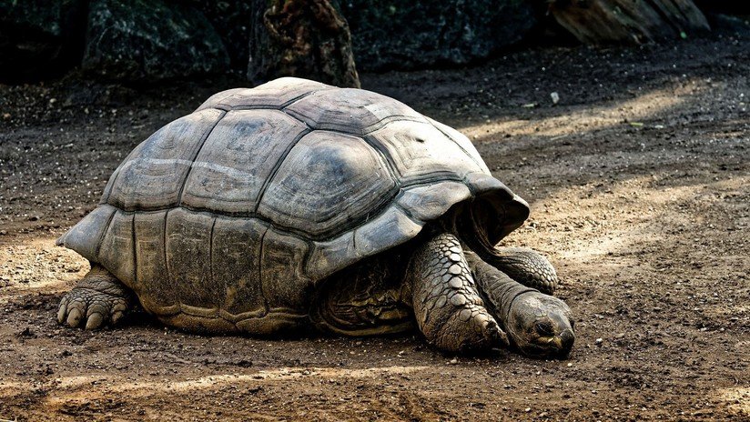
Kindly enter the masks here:
M 91 263 L 57 319 L 94 329 L 139 304 L 198 333 L 416 326 L 450 352 L 565 355 L 554 268 L 496 246 L 527 216 L 451 127 L 284 77 L 212 95 L 127 156 L 57 241 Z

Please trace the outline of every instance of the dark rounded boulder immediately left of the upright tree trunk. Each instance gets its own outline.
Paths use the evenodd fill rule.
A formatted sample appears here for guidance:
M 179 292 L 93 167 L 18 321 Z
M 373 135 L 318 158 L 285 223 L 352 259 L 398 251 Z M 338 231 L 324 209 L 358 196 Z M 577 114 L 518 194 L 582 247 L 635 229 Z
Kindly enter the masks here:
M 192 5 L 93 0 L 83 68 L 111 79 L 157 81 L 225 72 L 229 57 Z

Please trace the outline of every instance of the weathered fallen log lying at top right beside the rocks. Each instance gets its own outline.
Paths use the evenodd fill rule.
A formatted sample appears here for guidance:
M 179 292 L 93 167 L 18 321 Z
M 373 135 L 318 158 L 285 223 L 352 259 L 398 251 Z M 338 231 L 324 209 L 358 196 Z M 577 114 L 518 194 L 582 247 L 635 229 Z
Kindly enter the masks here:
M 709 31 L 693 0 L 551 0 L 555 20 L 586 44 L 643 44 Z

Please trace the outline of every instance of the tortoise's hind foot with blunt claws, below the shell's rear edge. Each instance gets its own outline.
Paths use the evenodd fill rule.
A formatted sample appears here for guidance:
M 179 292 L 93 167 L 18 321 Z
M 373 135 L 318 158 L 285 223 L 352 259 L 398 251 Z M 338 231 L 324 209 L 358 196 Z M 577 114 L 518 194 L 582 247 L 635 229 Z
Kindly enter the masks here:
M 57 322 L 78 327 L 86 321 L 86 329 L 115 325 L 132 304 L 130 289 L 104 267 L 92 263 L 91 271 L 60 301 Z

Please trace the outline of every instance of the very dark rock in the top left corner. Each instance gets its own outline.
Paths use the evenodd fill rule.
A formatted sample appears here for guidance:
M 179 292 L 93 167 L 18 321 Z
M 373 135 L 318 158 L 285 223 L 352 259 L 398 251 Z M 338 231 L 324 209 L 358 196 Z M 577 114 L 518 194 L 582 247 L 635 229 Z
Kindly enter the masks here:
M 0 81 L 60 75 L 80 60 L 84 0 L 0 0 Z

